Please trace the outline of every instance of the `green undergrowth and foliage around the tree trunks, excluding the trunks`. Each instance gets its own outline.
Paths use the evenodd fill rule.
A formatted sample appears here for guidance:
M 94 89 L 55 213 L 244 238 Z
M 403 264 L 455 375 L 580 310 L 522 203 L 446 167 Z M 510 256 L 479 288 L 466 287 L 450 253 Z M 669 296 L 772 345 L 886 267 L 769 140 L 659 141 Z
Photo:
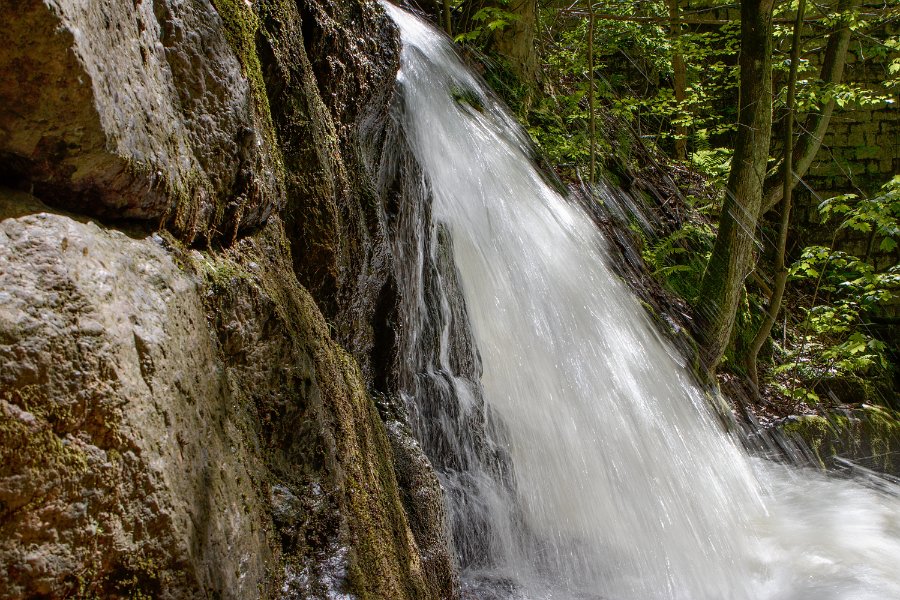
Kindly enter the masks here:
M 701 281 L 716 241 L 738 127 L 740 23 L 667 18 L 676 14 L 673 5 L 679 9 L 673 1 L 539 5 L 534 42 L 539 69 L 529 80 L 491 45 L 492 36 L 520 19 L 512 3 L 495 4 L 481 13 L 469 11 L 478 18 L 470 18 L 467 29 L 462 24 L 457 42 L 519 116 L 545 166 L 600 205 L 608 198 L 598 186 L 618 187 L 631 196 L 632 209 L 643 213 L 632 214 L 626 224 L 634 248 L 671 304 L 687 307 L 682 324 L 697 337 L 698 311 L 709 301 Z M 774 13 L 776 133 L 786 121 L 789 21 L 796 10 L 794 3 Z M 891 33 L 896 2 L 874 17 L 866 11 L 844 1 L 807 13 L 792 115 L 799 123 L 797 139 L 826 108 L 859 114 L 894 102 L 900 90 L 900 42 Z M 698 9 L 695 16 L 703 15 Z M 878 85 L 836 83 L 820 71 L 818 65 L 829 60 L 823 55 L 837 36 L 836 23 L 852 33 L 853 60 L 868 57 L 873 68 L 883 70 Z M 777 175 L 783 160 L 784 144 L 776 133 L 767 177 Z M 763 424 L 871 405 L 896 419 L 900 175 L 875 189 L 857 186 L 849 193 L 813 189 L 803 177 L 797 188 L 813 199 L 808 220 L 817 230 L 790 222 L 784 297 L 753 367 L 758 377 L 748 372 L 746 357 L 776 285 L 778 206 L 759 217 L 752 269 L 715 376 L 742 398 L 739 408 Z M 822 231 L 828 233 L 825 239 Z M 862 252 L 859 243 L 851 243 L 860 239 Z

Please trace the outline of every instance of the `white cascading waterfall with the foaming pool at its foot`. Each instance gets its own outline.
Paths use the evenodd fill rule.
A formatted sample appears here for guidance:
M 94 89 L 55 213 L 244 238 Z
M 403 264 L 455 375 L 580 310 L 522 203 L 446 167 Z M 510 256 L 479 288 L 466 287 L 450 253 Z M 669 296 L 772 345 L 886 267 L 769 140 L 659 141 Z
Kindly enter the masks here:
M 409 335 L 437 330 L 438 349 L 406 393 L 440 421 L 416 429 L 470 592 L 900 598 L 897 491 L 748 457 L 610 270 L 592 220 L 532 166 L 519 127 L 444 36 L 384 6 L 403 40 L 395 116 L 449 234 L 419 239 L 412 279 L 451 247 L 456 269 L 435 267 L 433 306 L 419 292 L 411 309 Z M 456 277 L 462 309 L 441 283 Z M 461 314 L 480 356 L 468 377 L 450 356 Z M 473 423 L 483 434 L 466 433 Z

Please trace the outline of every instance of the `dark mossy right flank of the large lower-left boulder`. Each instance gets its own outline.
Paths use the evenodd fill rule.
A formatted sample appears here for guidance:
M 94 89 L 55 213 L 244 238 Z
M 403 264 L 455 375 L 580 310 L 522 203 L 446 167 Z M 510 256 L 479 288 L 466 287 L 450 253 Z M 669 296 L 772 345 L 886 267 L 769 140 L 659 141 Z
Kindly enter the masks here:
M 300 597 L 434 597 L 385 426 L 287 246 L 274 220 L 224 254 L 193 259 L 214 292 L 207 306 L 232 389 L 259 419 L 283 586 Z

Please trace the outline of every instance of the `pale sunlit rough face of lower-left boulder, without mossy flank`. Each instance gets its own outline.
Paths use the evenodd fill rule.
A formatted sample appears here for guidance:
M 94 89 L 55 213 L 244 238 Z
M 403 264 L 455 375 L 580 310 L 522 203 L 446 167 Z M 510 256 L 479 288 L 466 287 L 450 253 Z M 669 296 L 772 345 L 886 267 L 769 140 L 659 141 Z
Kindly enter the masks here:
M 260 465 L 198 281 L 38 213 L 0 221 L 0 285 L 0 596 L 255 595 Z

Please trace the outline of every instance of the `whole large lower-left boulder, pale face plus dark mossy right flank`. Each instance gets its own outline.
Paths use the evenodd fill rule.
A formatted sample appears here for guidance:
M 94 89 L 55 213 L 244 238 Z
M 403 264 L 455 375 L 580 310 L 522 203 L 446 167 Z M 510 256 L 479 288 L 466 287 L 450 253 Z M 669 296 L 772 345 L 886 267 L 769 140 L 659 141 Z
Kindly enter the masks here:
M 0 196 L 0 597 L 452 589 L 277 222 L 199 253 Z

